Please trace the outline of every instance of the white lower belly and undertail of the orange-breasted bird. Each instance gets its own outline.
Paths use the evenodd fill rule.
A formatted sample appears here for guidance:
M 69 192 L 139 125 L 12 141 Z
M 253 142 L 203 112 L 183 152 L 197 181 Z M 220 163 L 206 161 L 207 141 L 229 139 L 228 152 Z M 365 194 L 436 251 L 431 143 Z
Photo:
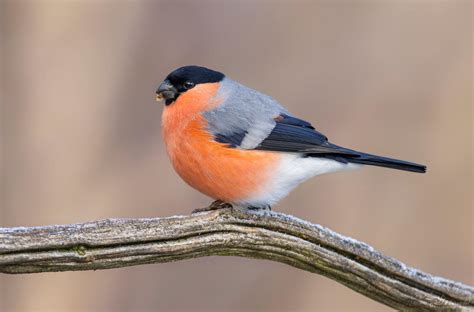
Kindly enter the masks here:
M 344 164 L 326 158 L 302 157 L 301 154 L 285 153 L 282 155 L 280 164 L 267 182 L 267 185 L 258 193 L 237 204 L 254 207 L 271 206 L 309 178 L 324 173 L 360 167 L 362 165 Z

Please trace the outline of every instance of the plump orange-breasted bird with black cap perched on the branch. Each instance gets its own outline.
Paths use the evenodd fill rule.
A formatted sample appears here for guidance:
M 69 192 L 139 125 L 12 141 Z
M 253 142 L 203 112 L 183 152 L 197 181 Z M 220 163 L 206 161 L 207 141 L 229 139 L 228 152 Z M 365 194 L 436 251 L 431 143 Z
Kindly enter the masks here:
M 219 204 L 270 208 L 311 177 L 362 165 L 426 171 L 332 144 L 270 96 L 205 67 L 176 69 L 156 94 L 174 169 Z

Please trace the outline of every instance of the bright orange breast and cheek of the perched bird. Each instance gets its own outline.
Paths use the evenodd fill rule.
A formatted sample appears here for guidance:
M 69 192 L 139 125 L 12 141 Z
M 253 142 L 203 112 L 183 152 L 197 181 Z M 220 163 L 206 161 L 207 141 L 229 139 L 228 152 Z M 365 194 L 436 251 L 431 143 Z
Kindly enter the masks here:
M 219 105 L 217 89 L 217 83 L 198 85 L 166 107 L 163 134 L 171 162 L 184 181 L 214 199 L 239 202 L 265 186 L 279 155 L 229 148 L 213 140 L 201 112 Z

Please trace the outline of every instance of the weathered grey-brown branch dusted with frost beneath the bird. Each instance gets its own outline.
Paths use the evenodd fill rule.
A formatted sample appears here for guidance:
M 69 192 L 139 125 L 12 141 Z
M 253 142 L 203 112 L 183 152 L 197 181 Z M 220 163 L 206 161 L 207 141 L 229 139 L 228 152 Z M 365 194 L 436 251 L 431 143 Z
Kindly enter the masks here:
M 364 243 L 282 213 L 221 209 L 0 228 L 3 273 L 111 269 L 211 255 L 286 263 L 397 309 L 474 308 L 471 286 L 409 268 Z

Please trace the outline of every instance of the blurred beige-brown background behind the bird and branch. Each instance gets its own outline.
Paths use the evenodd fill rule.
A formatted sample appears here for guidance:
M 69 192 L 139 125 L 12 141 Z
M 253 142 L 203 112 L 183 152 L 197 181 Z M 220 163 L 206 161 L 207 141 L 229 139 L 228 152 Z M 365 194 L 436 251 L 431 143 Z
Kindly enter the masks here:
M 428 165 L 317 177 L 275 210 L 473 284 L 472 1 L 1 1 L 0 226 L 188 214 L 154 91 L 198 64 L 340 145 Z M 0 276 L 1 311 L 386 311 L 324 277 L 209 257 Z

